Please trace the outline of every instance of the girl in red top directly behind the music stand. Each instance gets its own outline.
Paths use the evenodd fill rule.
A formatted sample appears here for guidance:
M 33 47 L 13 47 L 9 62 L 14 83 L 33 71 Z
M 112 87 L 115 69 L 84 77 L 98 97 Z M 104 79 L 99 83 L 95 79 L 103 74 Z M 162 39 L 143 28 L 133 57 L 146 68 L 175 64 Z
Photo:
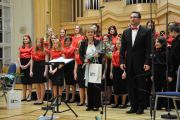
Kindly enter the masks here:
M 61 48 L 61 44 L 59 39 L 53 40 L 52 49 L 50 51 L 50 60 L 57 59 L 59 57 L 63 57 L 63 50 Z M 52 80 L 53 85 L 53 95 L 57 96 L 57 86 L 59 87 L 59 95 L 62 96 L 62 87 L 64 85 L 64 71 L 62 69 L 63 65 L 50 65 L 50 79 Z

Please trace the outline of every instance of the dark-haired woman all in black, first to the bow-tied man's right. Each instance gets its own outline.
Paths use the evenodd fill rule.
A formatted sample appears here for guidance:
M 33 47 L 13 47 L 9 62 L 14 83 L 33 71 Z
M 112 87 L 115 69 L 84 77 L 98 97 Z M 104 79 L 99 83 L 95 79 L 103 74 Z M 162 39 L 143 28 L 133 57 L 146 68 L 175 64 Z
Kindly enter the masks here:
M 166 40 L 158 37 L 155 40 L 154 49 L 154 88 L 155 92 L 167 91 L 166 85 Z M 159 99 L 157 109 L 161 109 L 164 105 L 162 98 Z

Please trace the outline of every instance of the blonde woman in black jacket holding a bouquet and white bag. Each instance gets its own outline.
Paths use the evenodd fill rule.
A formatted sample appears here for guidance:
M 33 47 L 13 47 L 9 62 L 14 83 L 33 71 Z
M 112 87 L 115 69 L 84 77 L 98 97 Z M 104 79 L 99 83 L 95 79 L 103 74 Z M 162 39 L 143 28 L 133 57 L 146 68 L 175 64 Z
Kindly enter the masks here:
M 101 49 L 101 41 L 94 39 L 94 29 L 88 27 L 87 40 L 81 41 L 79 48 L 80 59 L 86 63 L 85 80 L 87 85 L 88 105 L 86 111 L 98 111 L 101 106 L 101 84 L 89 82 L 89 65 L 97 60 L 99 64 L 102 63 L 101 55 L 97 52 Z M 89 55 L 91 57 L 88 57 Z

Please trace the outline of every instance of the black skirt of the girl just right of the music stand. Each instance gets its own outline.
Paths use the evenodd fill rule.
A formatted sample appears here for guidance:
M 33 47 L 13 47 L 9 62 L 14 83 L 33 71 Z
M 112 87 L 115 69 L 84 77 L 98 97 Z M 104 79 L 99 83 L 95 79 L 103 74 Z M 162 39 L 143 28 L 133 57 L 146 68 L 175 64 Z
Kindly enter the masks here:
M 75 85 L 76 84 L 76 80 L 74 80 L 74 64 L 75 64 L 75 62 L 72 61 L 63 67 L 65 82 L 67 85 Z

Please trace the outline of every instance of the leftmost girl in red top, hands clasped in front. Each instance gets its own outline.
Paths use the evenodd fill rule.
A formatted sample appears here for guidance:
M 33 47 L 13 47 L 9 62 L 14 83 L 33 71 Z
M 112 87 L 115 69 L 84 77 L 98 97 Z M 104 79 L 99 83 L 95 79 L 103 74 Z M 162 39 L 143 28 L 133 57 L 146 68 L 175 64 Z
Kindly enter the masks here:
M 21 83 L 23 84 L 23 99 L 22 99 L 22 101 L 26 101 L 26 100 L 30 101 L 31 100 L 32 80 L 29 75 L 30 64 L 31 64 L 31 53 L 32 53 L 31 38 L 29 35 L 24 35 L 23 36 L 23 45 L 19 47 L 19 56 L 18 56 L 20 73 L 23 74 L 23 76 L 21 76 Z M 28 92 L 29 92 L 28 97 L 26 96 L 27 87 L 28 87 Z

